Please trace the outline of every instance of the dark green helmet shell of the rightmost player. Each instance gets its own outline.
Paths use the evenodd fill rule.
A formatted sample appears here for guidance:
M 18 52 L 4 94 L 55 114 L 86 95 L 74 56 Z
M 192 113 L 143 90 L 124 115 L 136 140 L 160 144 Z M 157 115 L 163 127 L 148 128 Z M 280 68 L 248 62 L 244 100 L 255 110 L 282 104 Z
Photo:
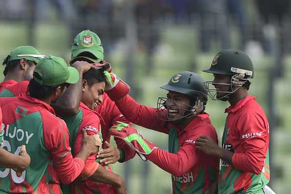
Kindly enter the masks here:
M 244 74 L 243 78 L 254 77 L 254 66 L 247 54 L 240 50 L 225 49 L 217 53 L 206 73 L 223 75 Z

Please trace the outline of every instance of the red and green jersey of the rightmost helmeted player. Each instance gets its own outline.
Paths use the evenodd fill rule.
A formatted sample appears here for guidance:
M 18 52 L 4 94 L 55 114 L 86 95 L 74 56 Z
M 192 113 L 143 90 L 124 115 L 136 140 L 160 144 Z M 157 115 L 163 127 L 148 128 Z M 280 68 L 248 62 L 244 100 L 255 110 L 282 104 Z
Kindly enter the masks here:
M 263 194 L 269 183 L 269 123 L 264 110 L 247 96 L 228 107 L 222 146 L 232 151 L 232 165 L 221 162 L 219 194 Z

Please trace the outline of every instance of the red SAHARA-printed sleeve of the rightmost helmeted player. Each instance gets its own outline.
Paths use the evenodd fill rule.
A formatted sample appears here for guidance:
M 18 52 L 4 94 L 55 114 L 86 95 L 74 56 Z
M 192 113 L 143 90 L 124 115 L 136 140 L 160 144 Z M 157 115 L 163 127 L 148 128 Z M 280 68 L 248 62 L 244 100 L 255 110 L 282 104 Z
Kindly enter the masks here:
M 267 118 L 258 113 L 252 113 L 240 118 L 237 125 L 238 138 L 244 148 L 244 153 L 233 154 L 233 167 L 259 174 L 265 166 L 269 146 Z

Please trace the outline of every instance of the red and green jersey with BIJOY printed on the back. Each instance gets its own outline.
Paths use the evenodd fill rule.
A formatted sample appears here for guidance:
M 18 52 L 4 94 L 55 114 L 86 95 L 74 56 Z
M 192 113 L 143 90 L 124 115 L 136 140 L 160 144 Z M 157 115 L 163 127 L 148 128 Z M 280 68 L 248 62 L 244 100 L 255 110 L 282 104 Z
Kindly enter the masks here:
M 21 94 L 0 98 L 0 107 L 5 113 L 2 146 L 19 154 L 21 145 L 26 145 L 31 157 L 30 166 L 22 173 L 0 169 L 1 193 L 52 193 L 52 177 L 48 173 L 50 161 L 62 182 L 71 183 L 79 176 L 85 163 L 72 157 L 67 125 L 55 116 L 51 106 Z M 60 187 L 54 191 L 61 193 Z

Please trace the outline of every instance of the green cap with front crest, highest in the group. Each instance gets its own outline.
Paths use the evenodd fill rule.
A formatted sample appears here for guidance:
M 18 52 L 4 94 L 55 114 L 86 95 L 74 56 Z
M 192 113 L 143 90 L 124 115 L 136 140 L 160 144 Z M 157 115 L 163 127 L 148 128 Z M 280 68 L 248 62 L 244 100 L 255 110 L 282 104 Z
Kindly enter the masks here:
M 82 52 L 90 52 L 92 57 L 78 56 Z M 71 48 L 71 60 L 75 58 L 86 58 L 93 63 L 103 61 L 104 49 L 97 34 L 90 30 L 83 30 L 74 39 Z

